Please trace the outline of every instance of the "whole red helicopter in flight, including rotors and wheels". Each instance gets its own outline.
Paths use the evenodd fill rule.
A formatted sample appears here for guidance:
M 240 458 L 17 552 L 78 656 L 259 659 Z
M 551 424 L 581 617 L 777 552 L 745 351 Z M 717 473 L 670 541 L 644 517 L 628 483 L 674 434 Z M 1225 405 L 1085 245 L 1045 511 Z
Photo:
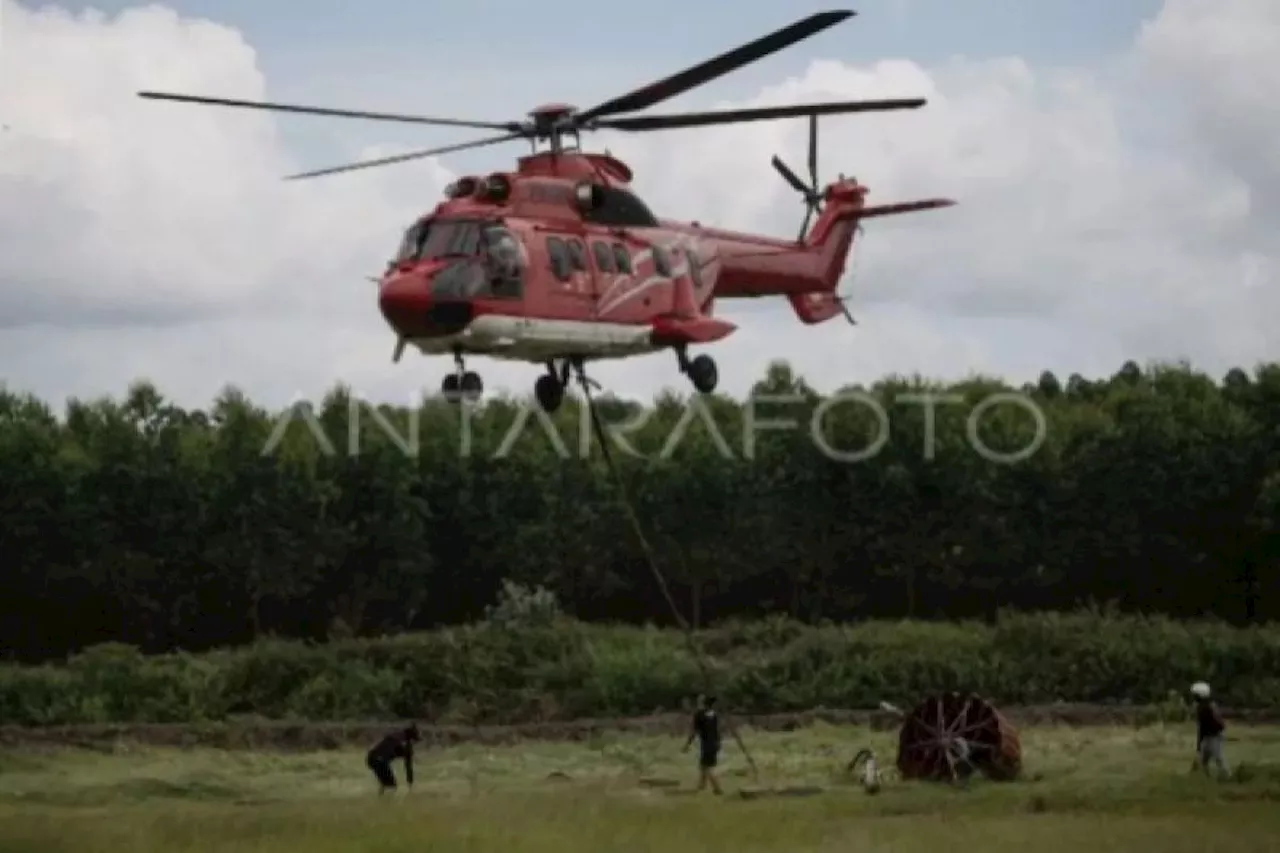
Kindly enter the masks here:
M 844 315 L 837 284 L 864 219 L 945 207 L 948 199 L 868 206 L 867 187 L 840 178 L 818 188 L 818 117 L 914 109 L 924 99 L 841 101 L 737 110 L 620 117 L 722 77 L 855 13 L 820 12 L 678 74 L 577 110 L 549 104 L 524 122 L 467 122 L 420 115 L 138 92 L 141 97 L 287 113 L 417 124 L 475 127 L 499 136 L 426 151 L 289 175 L 314 178 L 403 163 L 452 151 L 527 140 L 532 152 L 515 172 L 460 178 L 445 200 L 404 233 L 379 283 L 379 307 L 397 334 L 393 362 L 412 345 L 426 355 L 452 353 L 451 398 L 477 398 L 483 382 L 467 355 L 530 361 L 547 373 L 534 387 L 547 411 L 559 407 L 573 370 L 585 362 L 672 350 L 694 388 L 718 382 L 709 355 L 689 347 L 735 330 L 713 316 L 717 298 L 785 296 L 796 316 L 815 324 Z M 796 240 L 658 219 L 631 191 L 631 169 L 609 154 L 581 150 L 584 131 L 664 131 L 781 118 L 809 118 L 809 183 L 777 156 L 773 168 L 808 207 Z M 809 220 L 818 214 L 813 231 Z

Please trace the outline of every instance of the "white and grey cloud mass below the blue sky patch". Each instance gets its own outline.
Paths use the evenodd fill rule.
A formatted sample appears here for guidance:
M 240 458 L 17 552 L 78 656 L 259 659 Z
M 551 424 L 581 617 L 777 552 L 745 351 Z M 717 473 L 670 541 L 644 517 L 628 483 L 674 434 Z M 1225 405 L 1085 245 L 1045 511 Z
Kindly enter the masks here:
M 234 29 L 159 6 L 108 18 L 0 0 L 0 14 L 4 379 L 61 398 L 119 393 L 146 375 L 184 402 L 228 382 L 269 402 L 338 379 L 392 400 L 438 383 L 444 360 L 390 364 L 364 277 L 439 197 L 447 159 L 283 183 L 328 164 L 300 163 L 274 117 L 134 97 L 265 96 Z M 803 327 L 781 301 L 722 304 L 741 325 L 714 350 L 722 383 L 742 391 L 773 357 L 831 387 L 888 371 L 1096 373 L 1126 357 L 1221 370 L 1272 355 L 1277 40 L 1274 3 L 1169 0 L 1120 82 L 1018 58 L 818 60 L 762 92 L 758 102 L 929 97 L 915 113 L 823 119 L 819 177 L 856 174 L 874 201 L 961 204 L 867 224 L 855 329 Z M 532 100 L 543 88 L 522 86 Z M 803 167 L 801 120 L 605 136 L 590 142 L 635 168 L 662 215 L 799 227 L 803 205 L 768 160 Z M 673 361 L 596 377 L 680 387 Z M 486 362 L 483 374 L 524 391 L 536 369 Z

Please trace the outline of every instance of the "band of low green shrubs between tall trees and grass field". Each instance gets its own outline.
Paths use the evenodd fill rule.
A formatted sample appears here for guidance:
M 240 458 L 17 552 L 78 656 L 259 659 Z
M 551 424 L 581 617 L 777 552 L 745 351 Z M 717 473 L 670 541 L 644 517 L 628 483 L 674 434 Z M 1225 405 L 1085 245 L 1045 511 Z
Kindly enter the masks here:
M 774 617 L 707 629 L 699 642 L 737 712 L 874 707 L 938 689 L 1002 703 L 1160 703 L 1198 679 L 1233 706 L 1280 703 L 1280 626 L 1098 612 L 854 626 Z M 673 629 L 503 621 L 205 654 L 102 646 L 65 665 L 0 667 L 0 722 L 526 722 L 673 711 L 701 686 Z

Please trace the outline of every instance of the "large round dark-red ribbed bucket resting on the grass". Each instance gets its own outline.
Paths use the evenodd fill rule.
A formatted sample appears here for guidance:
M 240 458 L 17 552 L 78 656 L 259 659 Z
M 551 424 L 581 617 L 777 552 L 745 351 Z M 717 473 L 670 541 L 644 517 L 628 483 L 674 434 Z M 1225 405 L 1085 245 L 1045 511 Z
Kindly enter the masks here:
M 897 770 L 902 779 L 959 781 L 974 772 L 1015 779 L 1023 747 L 1018 730 L 993 704 L 973 693 L 932 695 L 902 721 Z

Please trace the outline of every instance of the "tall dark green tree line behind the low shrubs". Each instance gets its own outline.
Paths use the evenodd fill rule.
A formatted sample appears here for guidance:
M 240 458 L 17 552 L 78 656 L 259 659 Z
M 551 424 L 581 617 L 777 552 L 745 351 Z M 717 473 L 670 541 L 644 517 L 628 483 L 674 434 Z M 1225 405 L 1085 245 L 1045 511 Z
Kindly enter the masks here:
M 598 403 L 700 625 L 1087 602 L 1280 615 L 1276 364 L 1220 380 L 1133 362 L 1024 387 L 890 377 L 824 396 L 777 362 L 748 400 Z M 184 409 L 147 382 L 63 410 L 3 391 L 0 648 L 38 661 L 430 629 L 481 619 L 504 581 L 579 620 L 669 624 L 584 414 L 371 406 L 343 387 L 283 411 L 234 388 Z

